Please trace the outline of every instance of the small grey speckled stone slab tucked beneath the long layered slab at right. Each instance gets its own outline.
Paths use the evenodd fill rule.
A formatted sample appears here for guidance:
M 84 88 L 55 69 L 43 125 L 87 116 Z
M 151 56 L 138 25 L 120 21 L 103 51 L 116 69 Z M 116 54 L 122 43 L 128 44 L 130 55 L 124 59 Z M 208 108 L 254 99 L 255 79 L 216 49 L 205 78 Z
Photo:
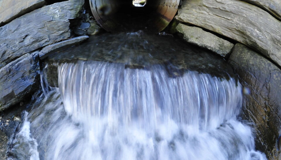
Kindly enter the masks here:
M 205 32 L 203 29 L 198 27 L 179 24 L 176 29 L 179 33 L 184 34 L 184 40 L 187 42 L 207 48 L 222 57 L 227 56 L 234 47 L 234 44 L 229 41 L 217 37 L 209 32 Z

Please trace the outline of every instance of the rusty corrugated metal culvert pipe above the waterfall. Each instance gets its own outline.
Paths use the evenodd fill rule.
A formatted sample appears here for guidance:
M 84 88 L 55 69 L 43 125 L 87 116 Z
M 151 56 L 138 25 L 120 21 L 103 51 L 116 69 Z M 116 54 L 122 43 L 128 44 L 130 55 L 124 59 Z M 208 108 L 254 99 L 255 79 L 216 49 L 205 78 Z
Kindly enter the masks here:
M 90 0 L 90 7 L 100 26 L 109 32 L 145 30 L 157 33 L 174 18 L 179 1 Z M 135 6 L 133 3 L 143 6 Z

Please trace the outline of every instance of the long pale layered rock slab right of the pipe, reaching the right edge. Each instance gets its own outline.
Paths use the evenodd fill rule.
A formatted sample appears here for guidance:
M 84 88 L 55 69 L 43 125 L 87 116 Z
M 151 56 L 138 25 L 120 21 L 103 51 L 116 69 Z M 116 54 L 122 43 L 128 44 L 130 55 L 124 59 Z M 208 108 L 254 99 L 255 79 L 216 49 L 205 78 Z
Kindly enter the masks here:
M 281 66 L 281 22 L 257 6 L 240 0 L 184 1 L 176 19 L 239 41 Z

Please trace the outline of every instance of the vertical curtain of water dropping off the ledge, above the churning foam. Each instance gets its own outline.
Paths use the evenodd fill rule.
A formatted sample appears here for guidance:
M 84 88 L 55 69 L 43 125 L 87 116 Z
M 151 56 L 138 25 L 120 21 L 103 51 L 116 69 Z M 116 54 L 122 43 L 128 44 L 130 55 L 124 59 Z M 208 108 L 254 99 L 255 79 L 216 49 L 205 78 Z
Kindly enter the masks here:
M 235 118 L 241 108 L 241 85 L 234 79 L 192 71 L 169 78 L 161 65 L 125 69 L 124 64 L 107 62 L 66 63 L 58 71 L 66 112 L 86 123 L 85 116 L 106 118 L 112 127 L 134 124 L 152 133 L 162 123 L 206 130 Z

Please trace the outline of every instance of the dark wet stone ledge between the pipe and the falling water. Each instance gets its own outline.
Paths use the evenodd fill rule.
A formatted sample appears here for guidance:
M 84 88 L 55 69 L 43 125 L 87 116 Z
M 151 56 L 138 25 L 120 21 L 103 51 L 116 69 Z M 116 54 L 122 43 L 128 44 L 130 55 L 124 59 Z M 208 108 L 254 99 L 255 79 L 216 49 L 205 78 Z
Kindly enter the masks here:
M 182 39 L 143 32 L 90 36 L 87 43 L 54 53 L 44 61 L 51 86 L 58 86 L 59 65 L 78 61 L 122 63 L 125 68 L 147 70 L 163 65 L 170 77 L 182 76 L 188 70 L 222 79 L 237 77 L 225 60 L 209 50 Z

